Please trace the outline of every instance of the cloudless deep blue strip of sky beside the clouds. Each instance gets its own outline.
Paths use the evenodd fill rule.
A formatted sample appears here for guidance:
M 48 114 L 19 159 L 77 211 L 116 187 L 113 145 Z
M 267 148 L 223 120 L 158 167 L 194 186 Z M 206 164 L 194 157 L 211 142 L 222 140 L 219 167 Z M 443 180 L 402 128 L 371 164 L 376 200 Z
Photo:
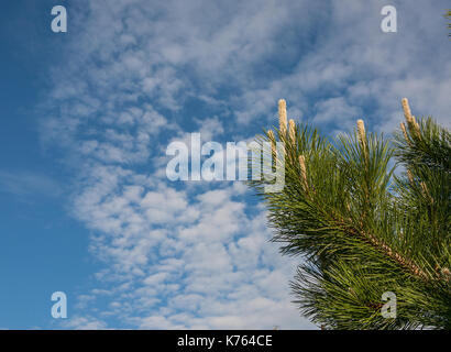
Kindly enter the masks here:
M 2 329 L 51 327 L 52 293 L 65 292 L 70 302 L 96 265 L 87 252 L 89 233 L 65 209 L 70 175 L 55 162 L 55 151 L 42 147 L 37 133 L 43 117 L 35 108 L 64 45 L 51 31 L 51 9 L 61 2 L 0 3 Z

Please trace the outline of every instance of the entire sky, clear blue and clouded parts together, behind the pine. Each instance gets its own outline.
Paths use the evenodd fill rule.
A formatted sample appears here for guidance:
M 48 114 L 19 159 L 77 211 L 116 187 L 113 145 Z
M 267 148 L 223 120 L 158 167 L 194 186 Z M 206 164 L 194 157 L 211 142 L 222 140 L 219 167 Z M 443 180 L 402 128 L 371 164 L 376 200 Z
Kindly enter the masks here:
M 68 32 L 51 31 L 64 4 Z M 383 33 L 393 4 L 398 32 Z M 276 102 L 323 133 L 449 125 L 447 1 L 0 4 L 0 328 L 315 328 L 299 258 L 244 185 L 166 178 L 166 146 L 250 140 Z M 65 292 L 68 318 L 53 319 Z

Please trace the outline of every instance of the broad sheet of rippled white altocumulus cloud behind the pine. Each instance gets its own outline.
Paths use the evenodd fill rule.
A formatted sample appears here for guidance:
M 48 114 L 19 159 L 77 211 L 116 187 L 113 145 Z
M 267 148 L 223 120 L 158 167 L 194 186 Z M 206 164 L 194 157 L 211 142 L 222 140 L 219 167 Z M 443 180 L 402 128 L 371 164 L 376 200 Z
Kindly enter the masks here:
M 311 328 L 264 209 L 239 183 L 169 183 L 164 152 L 195 131 L 249 140 L 280 97 L 329 133 L 392 131 L 403 96 L 447 122 L 446 3 L 397 3 L 389 35 L 384 1 L 74 4 L 42 136 L 77 169 L 73 215 L 105 266 L 67 327 Z

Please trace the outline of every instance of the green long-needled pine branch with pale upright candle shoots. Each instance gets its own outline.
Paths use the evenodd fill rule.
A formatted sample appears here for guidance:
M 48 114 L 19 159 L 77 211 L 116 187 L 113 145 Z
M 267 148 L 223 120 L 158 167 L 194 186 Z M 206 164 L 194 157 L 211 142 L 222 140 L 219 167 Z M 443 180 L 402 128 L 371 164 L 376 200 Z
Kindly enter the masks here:
M 285 144 L 284 189 L 265 194 L 264 180 L 250 186 L 267 205 L 282 253 L 304 256 L 292 288 L 321 327 L 451 324 L 450 133 L 430 118 L 417 121 L 407 99 L 403 109 L 406 124 L 394 144 L 367 134 L 362 120 L 354 135 L 329 141 L 287 122 L 280 100 L 278 130 L 258 139 Z M 393 156 L 398 163 L 388 167 Z M 405 177 L 393 176 L 398 166 Z M 380 314 L 391 287 L 405 309 L 393 321 Z

